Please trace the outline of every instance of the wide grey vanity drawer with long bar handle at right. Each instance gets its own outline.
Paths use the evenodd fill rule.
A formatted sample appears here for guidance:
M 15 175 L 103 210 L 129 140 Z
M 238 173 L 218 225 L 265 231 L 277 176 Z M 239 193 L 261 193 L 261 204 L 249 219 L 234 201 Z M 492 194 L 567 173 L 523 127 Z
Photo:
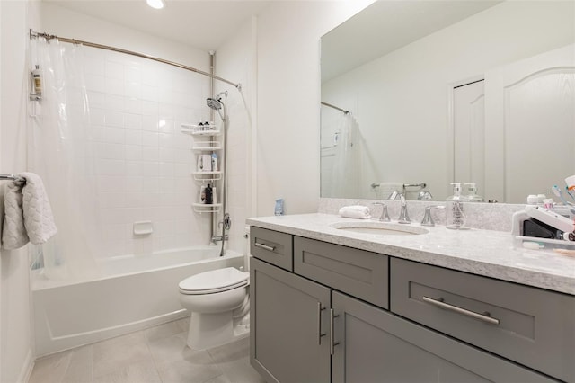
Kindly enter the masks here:
M 397 258 L 390 268 L 394 313 L 575 381 L 575 297 Z

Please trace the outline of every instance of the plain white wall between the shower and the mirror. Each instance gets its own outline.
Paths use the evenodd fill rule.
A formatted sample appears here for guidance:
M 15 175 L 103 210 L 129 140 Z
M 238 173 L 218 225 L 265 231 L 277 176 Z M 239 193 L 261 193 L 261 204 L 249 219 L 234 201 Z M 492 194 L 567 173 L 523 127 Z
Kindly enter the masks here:
M 317 211 L 320 38 L 373 1 L 273 2 L 258 17 L 257 209 Z

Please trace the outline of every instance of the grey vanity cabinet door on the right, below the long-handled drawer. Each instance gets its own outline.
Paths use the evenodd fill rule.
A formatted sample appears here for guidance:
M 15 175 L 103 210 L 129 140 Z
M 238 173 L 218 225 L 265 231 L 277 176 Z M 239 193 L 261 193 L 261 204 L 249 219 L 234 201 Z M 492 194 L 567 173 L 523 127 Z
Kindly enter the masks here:
M 553 381 L 334 291 L 333 382 Z

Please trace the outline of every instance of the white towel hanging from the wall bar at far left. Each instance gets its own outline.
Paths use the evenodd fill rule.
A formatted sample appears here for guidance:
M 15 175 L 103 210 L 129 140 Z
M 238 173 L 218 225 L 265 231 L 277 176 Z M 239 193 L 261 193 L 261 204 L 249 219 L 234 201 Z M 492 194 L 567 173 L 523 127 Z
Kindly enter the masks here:
M 2 247 L 13 250 L 30 241 L 40 245 L 56 235 L 48 195 L 40 176 L 19 174 L 25 183 L 14 181 L 6 185 L 4 194 L 4 227 Z

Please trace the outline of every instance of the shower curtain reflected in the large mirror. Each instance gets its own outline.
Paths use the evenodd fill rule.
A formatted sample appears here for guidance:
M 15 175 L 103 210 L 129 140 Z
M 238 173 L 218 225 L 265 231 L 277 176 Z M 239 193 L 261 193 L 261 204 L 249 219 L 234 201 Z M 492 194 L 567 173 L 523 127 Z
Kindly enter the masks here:
M 337 129 L 332 170 L 332 195 L 357 198 L 360 191 L 361 158 L 358 121 L 351 113 L 342 113 Z

